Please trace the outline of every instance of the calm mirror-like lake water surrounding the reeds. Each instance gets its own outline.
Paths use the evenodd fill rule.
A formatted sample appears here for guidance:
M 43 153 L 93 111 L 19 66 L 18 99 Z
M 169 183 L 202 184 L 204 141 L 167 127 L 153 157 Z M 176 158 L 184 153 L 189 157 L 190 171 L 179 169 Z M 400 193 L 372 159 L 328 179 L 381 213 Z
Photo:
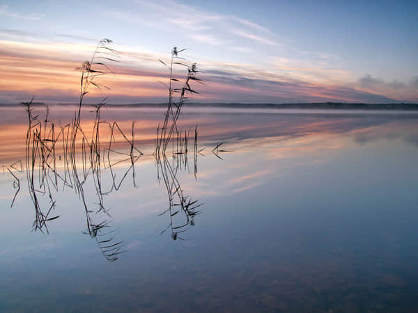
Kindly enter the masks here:
M 49 119 L 59 129 L 74 111 L 52 106 Z M 42 185 L 35 166 L 35 185 L 51 190 L 36 187 L 40 207 L 54 202 L 49 217 L 59 216 L 47 234 L 33 231 L 27 113 L 0 113 L 1 312 L 418 310 L 418 114 L 185 108 L 178 127 L 190 129 L 189 152 L 158 163 L 163 109 L 102 109 L 128 139 L 137 121 L 142 155 L 133 150 L 132 162 L 117 131 L 106 150 L 103 123 L 101 195 L 86 157 L 75 158 L 84 202 L 50 171 Z M 42 107 L 34 113 L 44 118 Z M 95 115 L 83 116 L 91 138 Z M 61 145 L 56 172 L 70 177 Z M 164 213 L 167 188 L 180 188 L 199 214 L 178 210 L 176 194 Z M 89 218 L 108 222 L 108 244 L 88 234 Z M 115 262 L 106 244 L 124 251 Z

